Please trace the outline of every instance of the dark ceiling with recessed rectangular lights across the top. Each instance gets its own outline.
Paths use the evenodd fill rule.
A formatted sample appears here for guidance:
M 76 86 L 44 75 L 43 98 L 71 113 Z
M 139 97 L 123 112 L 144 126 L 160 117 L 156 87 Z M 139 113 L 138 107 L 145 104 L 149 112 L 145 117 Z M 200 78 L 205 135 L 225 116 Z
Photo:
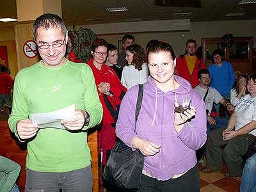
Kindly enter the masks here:
M 21 1 L 21 0 L 20 0 Z M 136 19 L 172 20 L 191 19 L 191 22 L 212 20 L 256 19 L 256 4 L 239 4 L 241 0 L 172 0 L 178 6 L 156 6 L 161 0 L 62 0 L 62 16 L 67 26 L 129 22 Z M 170 0 L 162 0 L 170 1 Z M 199 3 L 200 7 L 182 7 L 188 3 Z M 105 8 L 125 6 L 128 12 L 108 12 Z M 189 13 L 179 15 L 177 13 Z M 243 16 L 225 17 L 227 13 L 244 12 Z M 174 14 L 174 15 L 173 15 Z M 15 0 L 0 1 L 0 17 L 17 18 Z M 127 21 L 128 20 L 128 21 Z M 17 22 L 0 22 L 0 28 L 12 28 Z

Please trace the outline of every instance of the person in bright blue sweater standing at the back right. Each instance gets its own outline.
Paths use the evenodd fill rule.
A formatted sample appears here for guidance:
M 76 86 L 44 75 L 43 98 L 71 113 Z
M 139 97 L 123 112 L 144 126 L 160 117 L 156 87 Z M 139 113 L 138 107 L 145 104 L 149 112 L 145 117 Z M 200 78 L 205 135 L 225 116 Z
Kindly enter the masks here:
M 236 79 L 236 74 L 231 63 L 223 61 L 221 49 L 216 49 L 212 52 L 212 63 L 208 70 L 211 76 L 211 87 L 218 90 L 224 99 L 230 99 L 230 90 Z M 214 104 L 216 112 L 220 112 L 220 104 Z M 228 115 L 226 113 L 226 118 Z

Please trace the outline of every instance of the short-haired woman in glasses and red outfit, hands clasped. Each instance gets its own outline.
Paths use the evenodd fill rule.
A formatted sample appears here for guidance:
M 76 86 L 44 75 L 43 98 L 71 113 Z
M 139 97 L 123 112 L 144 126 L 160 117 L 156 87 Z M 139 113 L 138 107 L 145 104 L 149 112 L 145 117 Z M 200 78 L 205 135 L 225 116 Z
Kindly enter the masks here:
M 98 152 L 99 156 L 101 150 L 103 152 L 103 167 L 106 165 L 111 149 L 116 143 L 116 117 L 111 109 L 117 112 L 122 97 L 124 97 L 124 93 L 126 92 L 126 88 L 122 86 L 113 68 L 106 66 L 104 63 L 108 55 L 107 51 L 108 42 L 102 38 L 97 38 L 93 41 L 91 46 L 92 58 L 87 62 L 92 68 L 103 108 L 102 124 L 99 125 L 98 133 Z

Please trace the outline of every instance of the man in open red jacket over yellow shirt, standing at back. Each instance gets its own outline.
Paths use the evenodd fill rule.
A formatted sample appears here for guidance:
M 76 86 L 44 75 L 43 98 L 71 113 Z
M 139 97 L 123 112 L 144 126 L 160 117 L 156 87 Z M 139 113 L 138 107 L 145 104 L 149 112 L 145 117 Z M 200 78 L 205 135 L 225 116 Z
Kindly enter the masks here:
M 191 83 L 192 88 L 199 84 L 198 71 L 205 68 L 201 57 L 196 56 L 196 42 L 189 39 L 186 42 L 186 53 L 177 58 L 176 72 Z

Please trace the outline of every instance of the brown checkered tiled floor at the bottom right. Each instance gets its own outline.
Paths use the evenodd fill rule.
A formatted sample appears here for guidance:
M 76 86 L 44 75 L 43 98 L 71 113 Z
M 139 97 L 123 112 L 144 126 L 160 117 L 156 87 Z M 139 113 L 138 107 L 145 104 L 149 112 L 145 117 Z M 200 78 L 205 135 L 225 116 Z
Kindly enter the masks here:
M 204 166 L 199 165 L 199 169 Z M 225 165 L 221 172 L 204 173 L 200 172 L 201 192 L 239 192 L 241 177 L 225 178 Z

